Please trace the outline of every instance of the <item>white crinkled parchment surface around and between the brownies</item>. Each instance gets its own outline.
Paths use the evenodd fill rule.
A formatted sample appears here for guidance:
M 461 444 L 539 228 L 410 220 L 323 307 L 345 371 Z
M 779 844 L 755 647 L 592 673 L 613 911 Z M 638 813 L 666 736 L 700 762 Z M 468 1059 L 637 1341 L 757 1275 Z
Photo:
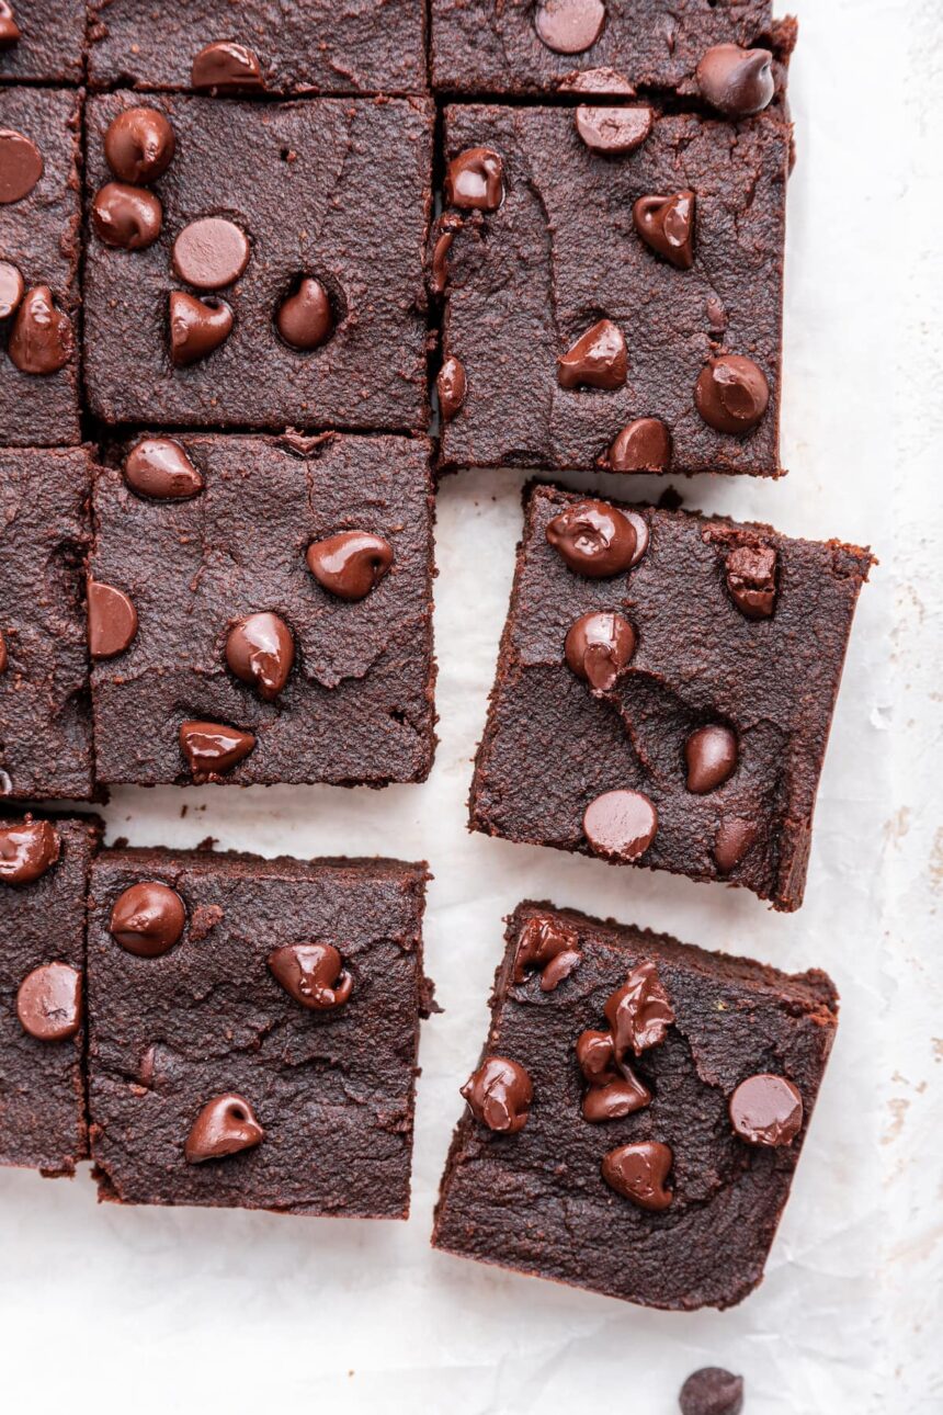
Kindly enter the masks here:
M 134 843 L 213 835 L 266 855 L 431 862 L 427 964 L 445 1013 L 423 1034 L 413 1217 L 120 1210 L 96 1206 L 85 1173 L 69 1184 L 3 1172 L 1 1409 L 667 1415 L 701 1364 L 745 1374 L 749 1415 L 943 1409 L 943 1041 L 933 1041 L 943 1034 L 933 781 L 943 14 L 939 0 L 802 10 L 786 282 L 792 475 L 681 490 L 689 505 L 869 542 L 882 562 L 851 641 L 804 907 L 780 917 L 741 891 L 467 835 L 523 478 L 452 478 L 438 512 L 441 746 L 426 787 L 123 791 L 106 812 L 110 838 Z M 741 1307 L 652 1313 L 427 1247 L 500 920 L 525 896 L 836 978 L 830 1071 L 766 1281 Z

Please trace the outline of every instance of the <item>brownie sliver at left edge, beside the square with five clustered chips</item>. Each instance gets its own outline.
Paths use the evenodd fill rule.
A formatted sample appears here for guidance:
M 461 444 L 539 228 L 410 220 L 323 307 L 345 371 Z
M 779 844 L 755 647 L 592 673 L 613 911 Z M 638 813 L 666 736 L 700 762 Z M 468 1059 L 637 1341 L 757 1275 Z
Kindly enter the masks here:
M 81 98 L 0 88 L 0 444 L 78 443 Z

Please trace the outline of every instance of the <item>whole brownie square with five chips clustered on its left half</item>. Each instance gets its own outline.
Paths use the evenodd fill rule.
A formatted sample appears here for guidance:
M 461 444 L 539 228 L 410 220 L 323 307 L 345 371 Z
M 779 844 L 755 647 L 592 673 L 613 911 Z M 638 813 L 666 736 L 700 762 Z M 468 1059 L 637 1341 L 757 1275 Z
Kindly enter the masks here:
M 140 103 L 126 92 L 89 100 L 90 201 L 113 178 L 103 153 L 110 122 Z M 92 410 L 107 423 L 146 415 L 151 426 L 424 429 L 430 108 L 418 99 L 253 105 L 157 95 L 147 106 L 175 134 L 172 160 L 151 188 L 163 226 L 153 245 L 120 249 L 90 224 Z M 247 242 L 235 283 L 213 284 L 235 269 L 221 272 L 216 250 L 212 270 L 195 269 L 192 245 L 189 259 L 180 259 L 177 238 L 202 218 L 223 218 L 229 238 Z M 308 351 L 290 347 L 276 327 L 303 279 L 317 280 L 329 304 L 329 330 Z M 185 365 L 171 357 L 171 334 L 181 328 L 170 317 L 171 294 L 189 301 L 209 345 L 219 321 L 225 328 L 232 318 L 222 342 L 201 344 L 197 358 L 199 348 L 185 341 L 199 344 L 201 333 L 187 331 L 184 311 L 185 347 L 175 357 L 194 359 Z

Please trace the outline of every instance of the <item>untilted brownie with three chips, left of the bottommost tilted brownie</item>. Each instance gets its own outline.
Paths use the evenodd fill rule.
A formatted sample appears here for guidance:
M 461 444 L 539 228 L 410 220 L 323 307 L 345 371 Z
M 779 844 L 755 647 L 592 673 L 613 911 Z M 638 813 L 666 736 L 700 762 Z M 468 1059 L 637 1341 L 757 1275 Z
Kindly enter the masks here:
M 406 1218 L 426 877 L 105 852 L 88 972 L 100 1197 Z

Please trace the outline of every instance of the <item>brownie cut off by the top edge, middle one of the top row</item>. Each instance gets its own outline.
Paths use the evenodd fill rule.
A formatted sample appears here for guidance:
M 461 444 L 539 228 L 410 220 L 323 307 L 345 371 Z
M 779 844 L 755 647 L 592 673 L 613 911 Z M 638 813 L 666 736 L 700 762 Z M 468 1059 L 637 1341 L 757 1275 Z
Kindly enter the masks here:
M 154 17 L 151 0 L 93 0 L 95 86 L 189 89 L 209 44 L 245 45 L 266 93 L 418 93 L 426 89 L 423 0 L 197 0 Z

